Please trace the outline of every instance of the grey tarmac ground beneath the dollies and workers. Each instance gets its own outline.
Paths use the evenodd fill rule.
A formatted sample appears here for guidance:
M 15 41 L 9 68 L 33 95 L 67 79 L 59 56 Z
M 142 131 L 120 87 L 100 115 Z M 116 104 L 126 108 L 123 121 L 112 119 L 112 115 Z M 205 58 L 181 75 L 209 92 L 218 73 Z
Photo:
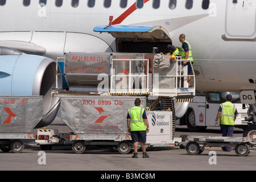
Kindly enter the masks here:
M 69 130 L 61 121 L 53 122 L 48 129 L 55 127 L 63 132 Z M 242 133 L 243 130 L 235 129 L 234 137 L 242 137 Z M 191 133 L 186 126 L 176 126 L 175 137 L 183 134 L 221 136 L 220 127 L 208 127 L 205 133 Z M 105 175 L 105 171 L 152 174 L 166 171 L 168 175 L 168 171 L 247 171 L 256 168 L 255 151 L 237 156 L 234 150 L 225 152 L 219 147 L 205 147 L 201 154 L 189 155 L 185 149 L 171 146 L 147 148 L 147 154 L 150 158 L 142 158 L 139 151 L 138 159 L 133 159 L 133 154 L 119 154 L 112 147 L 89 146 L 84 154 L 75 154 L 71 146 L 52 147 L 49 151 L 42 151 L 39 146 L 26 146 L 18 154 L 0 151 L 0 171 L 97 171 L 99 177 Z

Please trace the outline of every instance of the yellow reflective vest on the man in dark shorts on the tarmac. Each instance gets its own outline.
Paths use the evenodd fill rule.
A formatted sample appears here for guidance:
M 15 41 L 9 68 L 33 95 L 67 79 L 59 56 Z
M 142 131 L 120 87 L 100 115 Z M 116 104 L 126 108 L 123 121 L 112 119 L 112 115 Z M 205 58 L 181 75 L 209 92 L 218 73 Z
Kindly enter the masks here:
M 131 131 L 144 131 L 146 130 L 142 115 L 145 111 L 144 108 L 135 106 L 131 107 L 128 112 L 130 115 Z

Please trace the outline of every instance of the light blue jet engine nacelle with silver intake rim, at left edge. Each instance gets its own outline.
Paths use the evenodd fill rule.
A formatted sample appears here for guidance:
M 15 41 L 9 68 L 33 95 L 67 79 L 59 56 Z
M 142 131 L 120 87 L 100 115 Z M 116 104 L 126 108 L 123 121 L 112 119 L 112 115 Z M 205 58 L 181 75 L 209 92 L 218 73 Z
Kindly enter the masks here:
M 57 84 L 62 84 L 61 76 Z M 36 55 L 0 56 L 0 85 L 1 95 L 43 96 L 43 118 L 36 127 L 47 126 L 55 119 L 60 105 L 60 98 L 52 97 L 55 60 Z

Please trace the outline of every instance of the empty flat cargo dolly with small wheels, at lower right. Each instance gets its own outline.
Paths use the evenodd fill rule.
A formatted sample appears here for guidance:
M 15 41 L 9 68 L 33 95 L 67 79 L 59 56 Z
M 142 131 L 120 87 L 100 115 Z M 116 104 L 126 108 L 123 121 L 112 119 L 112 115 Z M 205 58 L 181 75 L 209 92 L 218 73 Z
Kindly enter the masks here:
M 238 156 L 246 156 L 250 152 L 249 145 L 251 140 L 256 140 L 256 136 L 250 137 L 187 137 L 186 150 L 190 155 L 201 154 L 205 147 L 235 147 Z

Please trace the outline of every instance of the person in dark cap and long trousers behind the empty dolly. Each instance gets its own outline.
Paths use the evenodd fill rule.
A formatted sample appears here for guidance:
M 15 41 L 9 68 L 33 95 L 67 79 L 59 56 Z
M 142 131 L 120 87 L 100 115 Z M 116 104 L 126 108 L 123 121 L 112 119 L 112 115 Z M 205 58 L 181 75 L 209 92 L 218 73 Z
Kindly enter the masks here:
M 237 118 L 236 105 L 232 104 L 230 101 L 232 96 L 230 94 L 226 95 L 226 102 L 220 105 L 218 113 L 215 119 L 215 126 L 218 124 L 218 118 L 220 118 L 220 127 L 222 132 L 222 137 L 233 137 L 234 121 Z M 221 147 L 224 151 L 230 151 L 231 147 Z

